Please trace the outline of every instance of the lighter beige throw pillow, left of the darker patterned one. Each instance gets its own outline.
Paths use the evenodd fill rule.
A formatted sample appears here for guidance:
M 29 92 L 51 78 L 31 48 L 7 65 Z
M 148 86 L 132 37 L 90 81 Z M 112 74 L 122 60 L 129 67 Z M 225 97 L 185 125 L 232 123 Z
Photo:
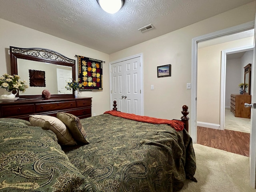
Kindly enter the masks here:
M 52 130 L 56 134 L 60 145 L 77 144 L 65 124 L 56 117 L 48 115 L 30 115 L 29 121 L 32 126 L 39 126 Z

